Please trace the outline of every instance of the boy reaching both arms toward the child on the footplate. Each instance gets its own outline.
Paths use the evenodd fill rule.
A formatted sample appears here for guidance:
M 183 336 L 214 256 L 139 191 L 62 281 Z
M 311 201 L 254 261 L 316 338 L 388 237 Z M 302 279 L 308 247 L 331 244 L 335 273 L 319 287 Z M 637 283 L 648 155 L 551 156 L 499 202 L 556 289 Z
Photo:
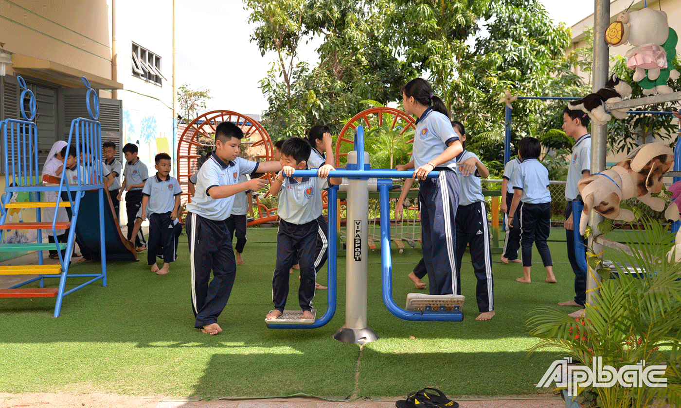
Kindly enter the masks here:
M 244 190 L 259 190 L 267 183 L 262 178 L 238 183 L 239 174 L 281 170 L 281 163 L 240 158 L 243 137 L 241 128 L 232 122 L 222 122 L 217 126 L 215 152 L 199 170 L 196 192 L 191 203 L 187 204 L 191 303 L 196 317 L 194 327 L 207 335 L 222 332 L 217 318 L 227 305 L 236 276 L 236 260 L 227 228 L 233 196 Z

